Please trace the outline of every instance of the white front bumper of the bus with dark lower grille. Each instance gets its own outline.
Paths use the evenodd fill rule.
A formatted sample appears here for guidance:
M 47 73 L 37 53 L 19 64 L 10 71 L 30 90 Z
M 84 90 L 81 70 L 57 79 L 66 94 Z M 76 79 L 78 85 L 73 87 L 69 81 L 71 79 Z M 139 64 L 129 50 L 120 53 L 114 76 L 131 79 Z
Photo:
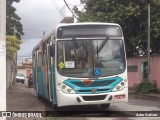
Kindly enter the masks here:
M 122 91 L 101 93 L 101 94 L 65 94 L 57 91 L 57 105 L 95 105 L 114 102 L 128 102 L 128 88 Z

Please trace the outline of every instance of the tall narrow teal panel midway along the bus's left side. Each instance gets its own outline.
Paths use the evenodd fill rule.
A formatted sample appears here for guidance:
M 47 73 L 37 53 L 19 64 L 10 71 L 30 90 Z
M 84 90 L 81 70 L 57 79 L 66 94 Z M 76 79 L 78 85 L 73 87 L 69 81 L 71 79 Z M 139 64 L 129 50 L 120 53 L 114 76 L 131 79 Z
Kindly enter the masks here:
M 43 96 L 43 73 L 42 68 L 38 67 L 38 95 Z

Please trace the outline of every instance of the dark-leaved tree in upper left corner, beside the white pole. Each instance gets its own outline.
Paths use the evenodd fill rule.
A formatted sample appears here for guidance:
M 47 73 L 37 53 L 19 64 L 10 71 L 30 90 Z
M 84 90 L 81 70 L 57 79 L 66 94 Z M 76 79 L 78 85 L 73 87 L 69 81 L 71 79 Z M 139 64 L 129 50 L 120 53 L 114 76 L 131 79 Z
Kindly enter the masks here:
M 23 35 L 23 28 L 20 22 L 21 18 L 15 13 L 16 8 L 12 6 L 13 2 L 20 2 L 20 0 L 7 0 L 7 18 L 6 18 L 6 34 L 14 35 L 21 39 Z M 15 28 L 15 29 L 14 29 Z

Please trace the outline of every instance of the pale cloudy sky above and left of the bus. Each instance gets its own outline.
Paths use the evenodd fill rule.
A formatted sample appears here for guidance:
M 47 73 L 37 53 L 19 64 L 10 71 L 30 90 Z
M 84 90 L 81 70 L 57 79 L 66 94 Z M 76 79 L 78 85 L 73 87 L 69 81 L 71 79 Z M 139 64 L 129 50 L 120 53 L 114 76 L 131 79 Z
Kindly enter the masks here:
M 79 0 L 66 0 L 70 7 L 79 5 Z M 60 23 L 64 16 L 71 15 L 64 7 L 64 0 L 20 0 L 14 3 L 16 13 L 21 18 L 24 35 L 18 51 L 18 60 L 31 57 L 33 47 Z

